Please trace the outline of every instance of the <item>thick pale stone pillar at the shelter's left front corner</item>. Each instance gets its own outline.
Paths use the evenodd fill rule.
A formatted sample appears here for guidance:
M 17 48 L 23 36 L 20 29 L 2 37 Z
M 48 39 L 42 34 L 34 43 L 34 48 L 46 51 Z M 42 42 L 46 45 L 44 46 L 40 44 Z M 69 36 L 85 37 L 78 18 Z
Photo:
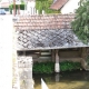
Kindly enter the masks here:
M 19 76 L 21 89 L 33 89 L 32 57 L 19 57 Z

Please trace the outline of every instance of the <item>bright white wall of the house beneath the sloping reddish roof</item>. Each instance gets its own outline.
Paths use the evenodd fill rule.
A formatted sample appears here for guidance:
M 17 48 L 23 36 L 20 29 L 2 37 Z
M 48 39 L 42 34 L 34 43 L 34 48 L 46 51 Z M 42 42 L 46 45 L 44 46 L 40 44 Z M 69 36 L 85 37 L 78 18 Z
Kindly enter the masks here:
M 75 9 L 79 7 L 79 1 L 80 0 L 69 0 L 61 9 L 61 13 L 75 13 Z

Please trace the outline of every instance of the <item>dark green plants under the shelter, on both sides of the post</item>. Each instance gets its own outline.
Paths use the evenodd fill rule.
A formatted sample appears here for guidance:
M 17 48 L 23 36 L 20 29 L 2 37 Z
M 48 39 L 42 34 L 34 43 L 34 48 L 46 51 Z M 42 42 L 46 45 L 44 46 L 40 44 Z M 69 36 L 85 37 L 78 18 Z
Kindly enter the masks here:
M 81 69 L 80 62 L 63 61 L 60 62 L 60 71 L 71 71 Z M 36 62 L 32 68 L 33 73 L 53 73 L 55 62 Z

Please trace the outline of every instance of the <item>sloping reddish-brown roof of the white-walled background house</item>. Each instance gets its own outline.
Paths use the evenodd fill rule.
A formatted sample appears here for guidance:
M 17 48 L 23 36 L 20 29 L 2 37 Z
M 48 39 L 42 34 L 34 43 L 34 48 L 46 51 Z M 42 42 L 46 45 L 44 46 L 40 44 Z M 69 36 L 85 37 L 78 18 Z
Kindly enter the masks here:
M 50 9 L 59 10 L 59 9 L 61 9 L 67 2 L 68 2 L 68 0 L 57 0 L 57 1 L 50 7 Z

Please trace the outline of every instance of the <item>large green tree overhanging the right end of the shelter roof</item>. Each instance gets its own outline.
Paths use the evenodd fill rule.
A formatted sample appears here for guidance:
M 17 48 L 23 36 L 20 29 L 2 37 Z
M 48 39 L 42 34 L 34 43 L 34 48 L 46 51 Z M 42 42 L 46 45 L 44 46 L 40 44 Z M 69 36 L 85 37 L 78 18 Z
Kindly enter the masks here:
M 89 0 L 80 0 L 71 27 L 73 32 L 83 43 L 89 42 Z

